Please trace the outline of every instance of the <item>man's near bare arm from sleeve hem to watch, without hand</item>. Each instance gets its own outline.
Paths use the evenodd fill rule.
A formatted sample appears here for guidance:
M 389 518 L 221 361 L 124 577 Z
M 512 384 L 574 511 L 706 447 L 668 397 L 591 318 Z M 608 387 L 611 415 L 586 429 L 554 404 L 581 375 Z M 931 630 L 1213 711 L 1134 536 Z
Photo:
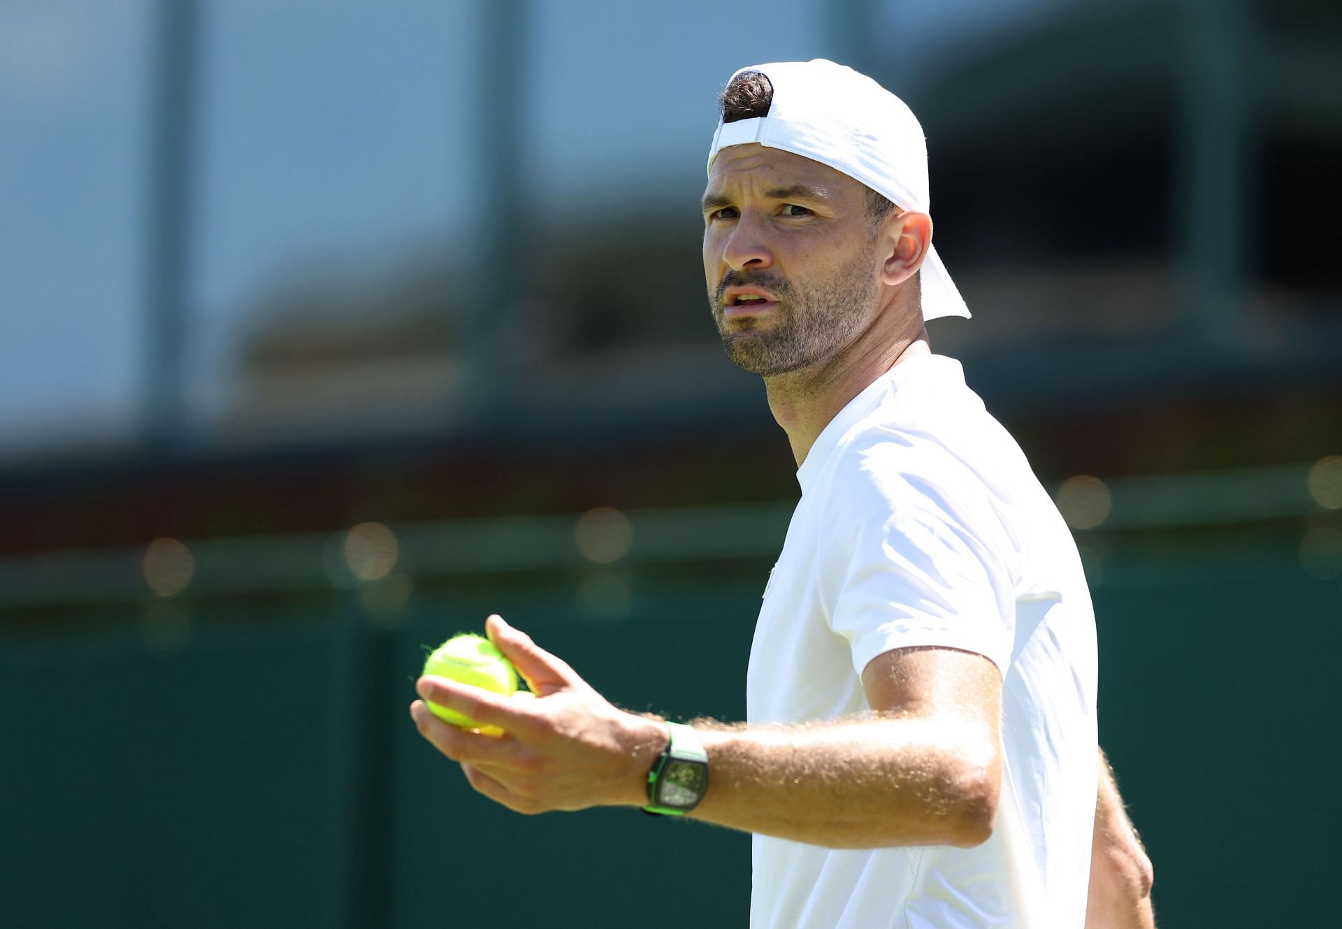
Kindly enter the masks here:
M 705 732 L 719 826 L 832 848 L 974 846 L 993 830 L 1001 681 L 981 655 L 905 648 L 863 673 L 872 718 Z

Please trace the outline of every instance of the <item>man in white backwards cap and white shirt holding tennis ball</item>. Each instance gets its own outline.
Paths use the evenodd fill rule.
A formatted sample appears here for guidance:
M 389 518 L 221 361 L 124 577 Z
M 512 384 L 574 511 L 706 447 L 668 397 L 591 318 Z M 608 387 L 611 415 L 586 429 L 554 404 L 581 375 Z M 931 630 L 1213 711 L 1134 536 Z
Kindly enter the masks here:
M 519 812 L 627 804 L 753 832 L 753 926 L 1080 926 L 1092 852 L 1096 886 L 1138 899 L 1145 873 L 1123 866 L 1145 857 L 1114 826 L 1117 792 L 1096 796 L 1111 781 L 1076 548 L 927 348 L 925 320 L 969 313 L 931 247 L 913 113 L 831 62 L 739 71 L 703 212 L 723 346 L 764 377 L 803 489 L 749 722 L 621 712 L 491 616 L 539 698 L 421 678 L 421 697 L 509 734 L 416 701 L 420 732 Z M 1102 909 L 1096 929 L 1142 925 Z

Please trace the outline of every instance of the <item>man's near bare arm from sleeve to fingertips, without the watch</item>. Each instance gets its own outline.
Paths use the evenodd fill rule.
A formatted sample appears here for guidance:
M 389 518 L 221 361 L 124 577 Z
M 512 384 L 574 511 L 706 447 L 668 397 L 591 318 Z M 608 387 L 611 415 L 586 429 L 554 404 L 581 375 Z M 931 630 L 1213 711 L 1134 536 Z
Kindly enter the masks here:
M 421 678 L 420 695 L 480 722 L 462 732 L 416 701 L 420 733 L 471 785 L 518 812 L 644 805 L 664 726 L 616 709 L 562 661 L 491 618 L 488 631 L 539 699 L 518 703 Z M 988 659 L 943 648 L 887 652 L 863 674 L 870 718 L 828 725 L 698 726 L 710 788 L 692 816 L 829 847 L 973 846 L 992 834 L 1001 682 Z

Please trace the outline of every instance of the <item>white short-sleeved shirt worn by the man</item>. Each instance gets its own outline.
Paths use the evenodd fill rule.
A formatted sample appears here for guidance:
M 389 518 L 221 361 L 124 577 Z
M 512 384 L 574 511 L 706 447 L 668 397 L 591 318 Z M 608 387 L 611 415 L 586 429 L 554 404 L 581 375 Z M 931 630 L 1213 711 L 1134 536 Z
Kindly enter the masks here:
M 868 710 L 867 663 L 946 646 L 1002 674 L 1002 784 L 974 848 L 756 835 L 754 929 L 1080 929 L 1099 779 L 1095 616 L 1071 532 L 965 385 L 918 356 L 824 428 L 750 650 L 750 722 Z

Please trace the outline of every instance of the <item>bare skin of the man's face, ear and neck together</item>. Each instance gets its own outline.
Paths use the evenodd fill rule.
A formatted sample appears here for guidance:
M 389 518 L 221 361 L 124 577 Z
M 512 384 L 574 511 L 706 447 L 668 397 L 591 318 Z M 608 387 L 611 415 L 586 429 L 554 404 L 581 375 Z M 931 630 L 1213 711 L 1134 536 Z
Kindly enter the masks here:
M 914 275 L 931 246 L 931 219 L 895 211 L 874 227 L 862 184 L 752 144 L 718 153 L 703 222 L 703 273 L 723 348 L 764 377 L 800 464 L 848 400 L 929 350 Z M 742 291 L 770 299 L 734 305 Z

